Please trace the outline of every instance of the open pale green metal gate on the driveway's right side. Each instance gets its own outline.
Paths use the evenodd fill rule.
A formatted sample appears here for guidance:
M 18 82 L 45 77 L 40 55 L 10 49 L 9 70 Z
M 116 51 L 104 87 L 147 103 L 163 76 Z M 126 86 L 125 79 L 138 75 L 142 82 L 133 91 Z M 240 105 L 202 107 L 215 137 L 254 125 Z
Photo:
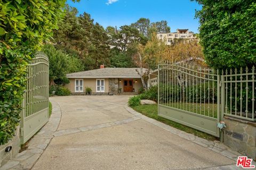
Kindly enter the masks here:
M 158 115 L 220 137 L 220 76 L 210 69 L 158 65 Z

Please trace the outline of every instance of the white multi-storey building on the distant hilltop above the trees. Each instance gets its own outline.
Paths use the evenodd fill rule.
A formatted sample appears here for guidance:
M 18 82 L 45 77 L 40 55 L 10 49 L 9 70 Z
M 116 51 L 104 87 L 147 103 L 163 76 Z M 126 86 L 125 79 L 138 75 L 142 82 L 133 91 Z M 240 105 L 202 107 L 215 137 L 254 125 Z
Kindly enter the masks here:
M 188 29 L 177 29 L 176 32 L 170 33 L 157 33 L 157 38 L 166 41 L 167 45 L 171 45 L 174 39 L 183 39 L 185 42 L 189 42 L 195 39 L 194 33 Z

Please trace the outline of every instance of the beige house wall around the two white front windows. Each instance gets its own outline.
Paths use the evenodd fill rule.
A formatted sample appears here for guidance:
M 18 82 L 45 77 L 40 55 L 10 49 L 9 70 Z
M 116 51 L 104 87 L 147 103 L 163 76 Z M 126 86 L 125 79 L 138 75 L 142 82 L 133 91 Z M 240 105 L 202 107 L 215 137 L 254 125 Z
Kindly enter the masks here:
M 75 80 L 76 79 L 69 79 L 69 83 L 65 85 L 71 92 L 75 92 Z M 96 92 L 96 80 L 97 79 L 83 79 L 83 92 L 87 87 L 92 89 L 92 92 Z M 105 78 L 105 93 L 109 92 L 109 79 Z

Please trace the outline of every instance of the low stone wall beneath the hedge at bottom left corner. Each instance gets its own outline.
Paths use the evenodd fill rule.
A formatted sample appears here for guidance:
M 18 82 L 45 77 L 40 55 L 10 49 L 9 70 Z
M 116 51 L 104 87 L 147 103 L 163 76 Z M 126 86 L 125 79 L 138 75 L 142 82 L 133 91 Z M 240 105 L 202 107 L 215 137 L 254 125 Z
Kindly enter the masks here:
M 0 145 L 0 167 L 4 165 L 8 160 L 12 159 L 15 155 L 19 153 L 20 150 L 20 126 L 18 126 L 15 136 L 11 141 L 5 145 Z M 5 151 L 6 147 L 12 147 L 12 150 L 9 152 Z

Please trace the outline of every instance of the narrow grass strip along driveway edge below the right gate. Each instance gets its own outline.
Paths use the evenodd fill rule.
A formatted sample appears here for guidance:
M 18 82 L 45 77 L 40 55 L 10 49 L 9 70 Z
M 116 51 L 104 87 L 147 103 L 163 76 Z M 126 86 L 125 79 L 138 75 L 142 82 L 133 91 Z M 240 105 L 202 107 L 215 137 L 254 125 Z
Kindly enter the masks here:
M 164 124 L 170 125 L 173 128 L 179 129 L 181 131 L 191 133 L 196 135 L 197 137 L 204 138 L 207 140 L 218 140 L 218 138 L 214 137 L 213 135 L 195 130 L 193 128 L 189 128 L 188 126 L 167 120 L 166 118 L 160 117 L 157 115 L 157 104 L 155 105 L 139 105 L 139 106 L 134 106 L 132 107 L 135 111 L 148 116 L 150 118 L 154 118 L 155 120 L 162 122 Z

